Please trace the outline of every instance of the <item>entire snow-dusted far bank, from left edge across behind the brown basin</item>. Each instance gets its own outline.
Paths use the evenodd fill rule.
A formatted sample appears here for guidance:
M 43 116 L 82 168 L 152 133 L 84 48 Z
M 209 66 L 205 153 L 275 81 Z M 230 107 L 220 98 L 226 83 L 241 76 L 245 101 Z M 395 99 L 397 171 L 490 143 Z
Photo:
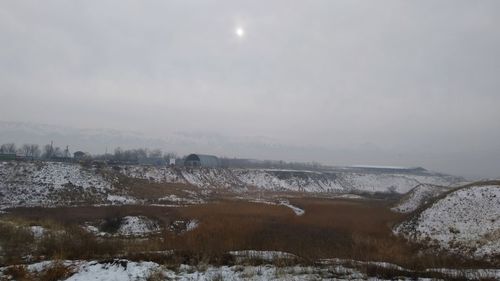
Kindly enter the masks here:
M 130 182 L 123 178 L 142 179 L 155 184 L 184 184 L 204 194 L 211 190 L 241 193 L 259 189 L 278 192 L 405 193 L 421 183 L 450 185 L 457 180 L 430 172 L 363 173 L 359 169 L 354 172 L 340 169 L 313 172 L 151 166 L 96 168 L 74 163 L 13 161 L 0 162 L 0 207 L 121 204 L 144 199 L 139 198 L 140 194 L 134 193 L 131 190 L 133 187 L 127 186 Z M 148 202 L 161 203 L 165 196 L 171 198 L 174 195 L 176 199 L 182 197 L 178 193 L 162 193 L 162 197 L 148 195 L 147 199 L 150 200 Z M 193 196 L 187 201 L 181 197 L 174 201 L 203 199 Z

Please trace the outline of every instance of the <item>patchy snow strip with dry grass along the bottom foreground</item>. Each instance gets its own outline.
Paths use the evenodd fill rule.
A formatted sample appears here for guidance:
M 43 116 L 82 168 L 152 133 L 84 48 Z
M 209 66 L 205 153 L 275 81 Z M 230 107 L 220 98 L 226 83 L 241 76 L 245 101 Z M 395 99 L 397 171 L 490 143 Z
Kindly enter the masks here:
M 34 275 L 50 268 L 55 262 L 44 261 L 29 265 L 27 270 Z M 68 281 L 146 281 L 146 280 L 179 280 L 179 281 L 213 281 L 213 280 L 387 280 L 367 276 L 365 273 L 345 266 L 341 263 L 329 263 L 318 266 L 281 266 L 266 264 L 261 266 L 234 265 L 180 265 L 172 270 L 154 262 L 133 262 L 128 260 L 109 261 L 63 261 L 60 264 L 70 268 L 74 273 L 66 278 Z M 385 267 L 390 267 L 388 264 Z M 7 267 L 0 268 L 3 272 Z M 401 268 L 402 269 L 402 268 Z M 404 269 L 403 269 L 404 270 Z M 441 272 L 446 276 L 467 276 L 470 280 L 479 278 L 496 279 L 500 277 L 498 269 L 429 269 Z M 398 277 L 397 280 L 415 280 L 413 277 Z M 430 280 L 430 279 L 419 279 Z

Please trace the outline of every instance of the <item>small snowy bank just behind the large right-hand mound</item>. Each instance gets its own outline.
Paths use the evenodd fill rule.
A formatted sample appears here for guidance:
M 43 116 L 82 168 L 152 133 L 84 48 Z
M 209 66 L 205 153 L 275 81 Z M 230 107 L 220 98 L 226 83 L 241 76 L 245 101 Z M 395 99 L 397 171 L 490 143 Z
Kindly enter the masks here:
M 449 191 L 449 187 L 440 187 L 429 184 L 420 184 L 410 190 L 405 197 L 391 210 L 400 213 L 410 213 L 417 210 L 420 206 L 430 202 L 432 198 Z

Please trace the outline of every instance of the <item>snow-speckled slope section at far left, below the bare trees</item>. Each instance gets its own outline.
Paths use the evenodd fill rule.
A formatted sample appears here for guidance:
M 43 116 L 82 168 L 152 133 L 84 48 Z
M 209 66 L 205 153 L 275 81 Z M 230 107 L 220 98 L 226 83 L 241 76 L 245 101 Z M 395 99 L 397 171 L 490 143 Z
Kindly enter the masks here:
M 103 202 L 112 185 L 94 169 L 54 162 L 0 162 L 0 207 Z

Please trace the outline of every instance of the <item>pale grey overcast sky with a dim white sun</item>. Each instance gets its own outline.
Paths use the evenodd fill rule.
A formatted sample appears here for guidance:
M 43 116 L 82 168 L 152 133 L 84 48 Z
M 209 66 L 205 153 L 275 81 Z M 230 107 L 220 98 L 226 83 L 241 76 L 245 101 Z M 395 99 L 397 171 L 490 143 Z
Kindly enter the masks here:
M 0 38 L 1 121 L 500 177 L 497 0 L 0 0 Z

